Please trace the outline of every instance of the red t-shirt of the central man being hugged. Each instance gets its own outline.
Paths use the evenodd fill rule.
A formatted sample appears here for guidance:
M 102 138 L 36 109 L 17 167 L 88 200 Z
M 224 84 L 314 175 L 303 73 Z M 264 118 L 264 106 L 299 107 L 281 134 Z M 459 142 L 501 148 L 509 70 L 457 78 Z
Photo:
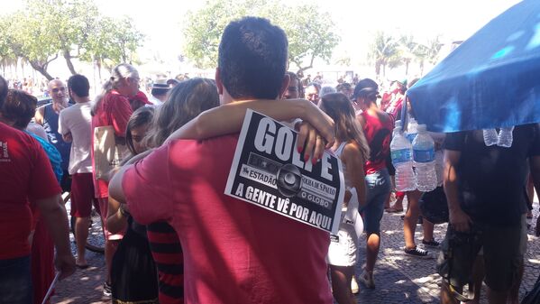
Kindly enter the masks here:
M 131 214 L 176 230 L 186 303 L 332 303 L 329 235 L 224 195 L 237 141 L 175 141 L 137 162 L 123 180 Z

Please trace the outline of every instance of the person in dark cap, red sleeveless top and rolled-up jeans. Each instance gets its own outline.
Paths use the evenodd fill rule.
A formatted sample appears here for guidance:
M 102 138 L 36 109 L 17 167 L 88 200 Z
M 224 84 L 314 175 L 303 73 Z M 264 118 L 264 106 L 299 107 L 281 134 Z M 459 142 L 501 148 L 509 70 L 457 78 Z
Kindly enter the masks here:
M 369 289 L 375 288 L 373 268 L 380 248 L 380 219 L 384 212 L 384 202 L 389 196 L 391 181 L 387 169 L 390 152 L 390 135 L 394 119 L 377 106 L 379 86 L 370 78 L 362 79 L 354 88 L 352 100 L 362 113 L 357 119 L 362 125 L 366 140 L 370 145 L 370 158 L 364 164 L 367 185 L 367 204 L 362 211 L 366 232 L 366 265 L 360 281 Z

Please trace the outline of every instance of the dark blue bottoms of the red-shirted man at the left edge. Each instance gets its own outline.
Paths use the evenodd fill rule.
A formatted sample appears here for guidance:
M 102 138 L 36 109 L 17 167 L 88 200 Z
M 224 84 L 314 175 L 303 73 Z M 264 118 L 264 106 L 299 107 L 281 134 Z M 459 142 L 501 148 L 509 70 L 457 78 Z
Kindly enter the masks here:
M 0 304 L 32 304 L 30 255 L 0 260 Z

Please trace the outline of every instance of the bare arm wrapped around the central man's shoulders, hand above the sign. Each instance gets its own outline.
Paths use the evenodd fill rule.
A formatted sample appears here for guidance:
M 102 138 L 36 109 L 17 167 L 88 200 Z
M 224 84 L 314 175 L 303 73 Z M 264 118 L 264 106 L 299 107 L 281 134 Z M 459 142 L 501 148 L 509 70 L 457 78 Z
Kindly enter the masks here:
M 170 134 L 165 143 L 180 138 L 205 139 L 239 132 L 242 129 L 243 118 L 248 108 L 279 121 L 301 118 L 313 125 L 321 138 L 326 141 L 327 146 L 334 143 L 334 121 L 305 99 L 249 100 L 218 106 L 206 110 Z M 299 138 L 300 140 L 311 139 L 308 134 L 302 134 L 302 132 L 307 132 L 306 130 L 307 128 L 300 129 L 300 134 L 303 136 Z M 316 134 L 312 135 L 313 142 L 316 142 Z M 298 145 L 303 145 L 303 143 L 298 141 Z

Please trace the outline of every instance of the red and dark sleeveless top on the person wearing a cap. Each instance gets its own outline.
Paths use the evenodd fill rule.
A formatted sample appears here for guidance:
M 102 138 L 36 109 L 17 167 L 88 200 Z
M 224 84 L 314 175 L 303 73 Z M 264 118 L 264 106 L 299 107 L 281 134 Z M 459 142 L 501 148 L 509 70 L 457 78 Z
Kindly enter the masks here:
M 367 112 L 362 112 L 361 115 L 365 121 L 363 132 L 370 145 L 370 159 L 366 161 L 364 171 L 366 174 L 373 174 L 386 168 L 394 120 L 389 115 L 385 122 L 381 121 L 377 116 L 369 115 Z

